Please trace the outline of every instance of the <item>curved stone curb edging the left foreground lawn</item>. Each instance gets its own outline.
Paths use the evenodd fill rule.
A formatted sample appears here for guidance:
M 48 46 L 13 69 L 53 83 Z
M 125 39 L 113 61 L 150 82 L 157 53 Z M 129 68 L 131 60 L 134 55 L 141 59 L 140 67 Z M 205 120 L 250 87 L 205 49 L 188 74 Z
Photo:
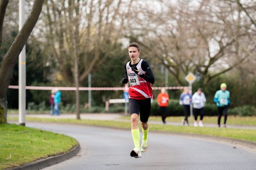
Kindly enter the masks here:
M 40 170 L 45 167 L 49 167 L 54 164 L 58 164 L 62 161 L 65 161 L 67 159 L 70 159 L 71 157 L 75 156 L 79 152 L 80 148 L 81 148 L 80 144 L 78 143 L 76 147 L 74 147 L 72 150 L 70 150 L 67 153 L 63 153 L 58 156 L 51 156 L 47 159 L 39 159 L 35 162 L 24 164 L 19 167 L 9 168 L 7 170 Z

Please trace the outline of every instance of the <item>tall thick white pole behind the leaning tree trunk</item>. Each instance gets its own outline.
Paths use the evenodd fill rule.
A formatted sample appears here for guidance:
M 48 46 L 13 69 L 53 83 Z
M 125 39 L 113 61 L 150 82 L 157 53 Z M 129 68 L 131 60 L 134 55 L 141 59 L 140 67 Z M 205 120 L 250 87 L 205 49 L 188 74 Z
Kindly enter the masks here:
M 25 0 L 19 0 L 19 31 L 25 22 Z M 19 124 L 26 123 L 26 45 L 19 55 Z

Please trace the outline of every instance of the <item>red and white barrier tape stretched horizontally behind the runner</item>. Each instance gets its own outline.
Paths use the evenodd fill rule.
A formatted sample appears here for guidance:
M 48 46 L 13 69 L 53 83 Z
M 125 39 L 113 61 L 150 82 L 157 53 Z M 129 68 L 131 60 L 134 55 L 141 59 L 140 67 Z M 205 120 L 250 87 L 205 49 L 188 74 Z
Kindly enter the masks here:
M 12 89 L 18 89 L 18 85 L 9 85 L 9 88 Z M 58 88 L 60 91 L 75 91 L 75 87 L 40 87 L 40 86 L 26 86 L 27 90 L 54 90 Z M 180 87 L 152 87 L 153 90 L 161 90 L 161 88 L 165 88 L 166 90 L 178 90 L 178 89 L 183 89 L 185 86 L 180 86 Z M 85 88 L 85 87 L 80 87 L 79 91 L 124 91 L 125 87 L 122 88 Z

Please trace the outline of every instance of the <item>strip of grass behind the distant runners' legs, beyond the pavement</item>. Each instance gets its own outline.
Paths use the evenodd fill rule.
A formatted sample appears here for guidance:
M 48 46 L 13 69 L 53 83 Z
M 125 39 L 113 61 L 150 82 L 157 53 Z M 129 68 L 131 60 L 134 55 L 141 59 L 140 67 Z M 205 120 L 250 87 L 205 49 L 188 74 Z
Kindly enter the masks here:
M 122 119 L 130 120 L 130 116 L 123 116 Z M 166 118 L 166 122 L 180 122 L 184 119 L 184 116 L 170 116 Z M 211 123 L 217 124 L 217 116 L 204 116 L 203 122 L 204 123 Z M 198 117 L 199 120 L 199 117 Z M 161 122 L 162 119 L 160 116 L 150 116 L 149 121 L 159 121 Z M 221 119 L 221 123 L 223 123 L 224 117 Z M 194 118 L 191 119 L 189 116 L 189 122 L 193 123 Z M 247 126 L 256 126 L 256 116 L 227 116 L 227 125 L 247 125 Z

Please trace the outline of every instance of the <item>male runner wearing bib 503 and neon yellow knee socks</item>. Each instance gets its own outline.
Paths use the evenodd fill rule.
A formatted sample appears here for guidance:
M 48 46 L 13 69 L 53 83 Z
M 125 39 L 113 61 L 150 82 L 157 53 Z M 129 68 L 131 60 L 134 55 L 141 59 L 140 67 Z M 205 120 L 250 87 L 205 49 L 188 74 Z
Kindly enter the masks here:
M 130 62 L 125 64 L 125 77 L 122 83 L 130 83 L 129 87 L 129 110 L 131 115 L 131 134 L 134 141 L 134 149 L 130 155 L 134 158 L 141 157 L 141 152 L 148 149 L 148 117 L 151 107 L 152 88 L 154 76 L 148 65 L 140 59 L 140 45 L 136 42 L 128 46 Z M 143 132 L 143 142 L 140 147 L 140 130 L 138 116 L 140 113 L 140 125 Z

